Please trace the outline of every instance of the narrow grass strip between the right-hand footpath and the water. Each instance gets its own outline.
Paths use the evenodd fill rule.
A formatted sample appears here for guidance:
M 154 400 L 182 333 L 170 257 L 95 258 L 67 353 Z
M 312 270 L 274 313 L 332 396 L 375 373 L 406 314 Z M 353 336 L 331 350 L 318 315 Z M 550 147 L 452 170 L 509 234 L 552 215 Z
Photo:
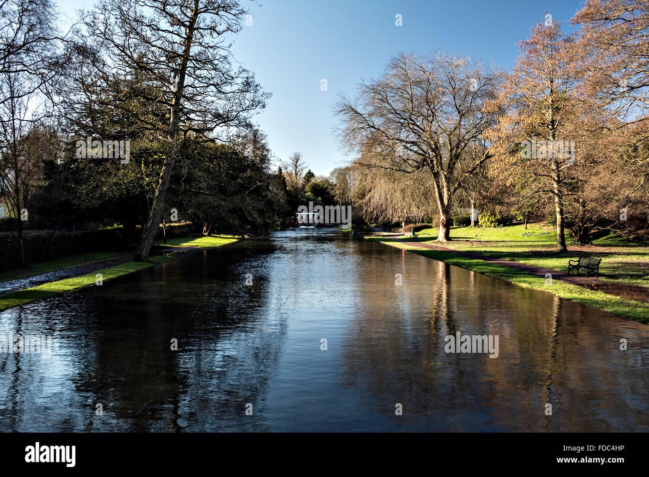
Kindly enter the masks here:
M 587 289 L 579 285 L 561 282 L 560 280 L 554 280 L 552 285 L 546 285 L 545 277 L 532 275 L 531 273 L 525 273 L 503 265 L 496 265 L 485 260 L 464 257 L 452 251 L 425 249 L 424 247 L 416 247 L 380 236 L 367 237 L 367 239 L 481 273 L 482 275 L 500 278 L 500 280 L 505 280 L 517 286 L 556 295 L 559 298 L 574 301 L 585 306 L 599 308 L 605 312 L 613 313 L 613 315 L 618 317 L 644 324 L 649 323 L 649 304 L 644 304 L 643 302 L 607 295 L 602 291 Z M 550 291 L 550 287 L 552 287 L 552 291 Z

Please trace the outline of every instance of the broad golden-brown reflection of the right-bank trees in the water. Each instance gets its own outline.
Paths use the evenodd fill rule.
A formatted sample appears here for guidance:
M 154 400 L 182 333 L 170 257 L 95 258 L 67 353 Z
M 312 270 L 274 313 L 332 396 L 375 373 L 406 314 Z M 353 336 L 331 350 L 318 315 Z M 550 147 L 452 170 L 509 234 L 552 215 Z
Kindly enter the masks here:
M 642 325 L 410 257 L 403 287 L 393 286 L 388 272 L 402 266 L 400 252 L 384 267 L 386 277 L 363 274 L 362 311 L 349 324 L 344 353 L 345 382 L 366 393 L 365 405 L 386 429 L 594 431 L 621 430 L 620 422 L 647 428 L 641 397 L 649 384 L 617 343 L 625 328 L 647 343 Z M 444 337 L 458 330 L 498 335 L 500 356 L 446 354 Z M 646 359 L 646 347 L 637 352 Z M 404 406 L 400 417 L 397 402 Z M 548 402 L 552 416 L 545 415 Z

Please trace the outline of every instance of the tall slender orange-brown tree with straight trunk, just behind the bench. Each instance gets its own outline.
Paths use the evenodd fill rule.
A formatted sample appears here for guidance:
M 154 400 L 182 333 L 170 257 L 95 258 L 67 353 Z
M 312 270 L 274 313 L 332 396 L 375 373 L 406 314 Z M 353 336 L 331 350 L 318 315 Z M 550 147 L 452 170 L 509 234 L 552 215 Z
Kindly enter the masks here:
M 520 42 L 519 58 L 504 77 L 495 102 L 500 112 L 495 142 L 502 144 L 502 151 L 518 153 L 522 141 L 548 145 L 541 148 L 541 154 L 515 155 L 516 160 L 506 167 L 518 167 L 521 173 L 532 175 L 534 193 L 552 197 L 559 252 L 567 251 L 565 179 L 574 157 L 555 153 L 557 145 L 574 140 L 574 136 L 568 137 L 567 123 L 578 110 L 576 92 L 582 81 L 574 42 L 574 36 L 564 34 L 559 23 L 535 25 L 530 38 Z

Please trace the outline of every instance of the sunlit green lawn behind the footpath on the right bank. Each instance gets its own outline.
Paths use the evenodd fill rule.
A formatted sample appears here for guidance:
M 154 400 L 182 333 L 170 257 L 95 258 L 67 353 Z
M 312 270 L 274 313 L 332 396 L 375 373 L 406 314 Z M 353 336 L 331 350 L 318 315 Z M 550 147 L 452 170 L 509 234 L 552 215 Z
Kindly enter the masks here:
M 532 236 L 520 234 L 533 232 Z M 550 232 L 539 236 L 540 232 Z M 404 238 L 407 236 L 403 236 Z M 419 241 L 437 239 L 437 229 L 427 228 L 417 233 Z M 556 251 L 557 234 L 553 227 L 514 225 L 502 228 L 453 227 L 449 249 L 471 251 L 494 258 L 513 260 L 537 267 L 566 271 L 568 260 L 587 254 L 602 258 L 600 280 L 619 284 L 649 287 L 649 247 L 618 238 L 607 237 L 593 245 L 568 245 L 568 252 Z M 566 241 L 572 238 L 567 237 Z

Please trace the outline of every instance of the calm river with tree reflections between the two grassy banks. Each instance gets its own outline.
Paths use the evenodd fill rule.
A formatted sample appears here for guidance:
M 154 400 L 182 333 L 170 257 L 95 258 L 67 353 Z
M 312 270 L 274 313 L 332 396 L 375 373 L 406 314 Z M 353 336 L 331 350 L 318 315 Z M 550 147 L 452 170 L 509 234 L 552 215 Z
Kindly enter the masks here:
M 5 432 L 649 430 L 649 326 L 335 230 L 6 310 L 9 334 L 52 346 L 0 354 Z

